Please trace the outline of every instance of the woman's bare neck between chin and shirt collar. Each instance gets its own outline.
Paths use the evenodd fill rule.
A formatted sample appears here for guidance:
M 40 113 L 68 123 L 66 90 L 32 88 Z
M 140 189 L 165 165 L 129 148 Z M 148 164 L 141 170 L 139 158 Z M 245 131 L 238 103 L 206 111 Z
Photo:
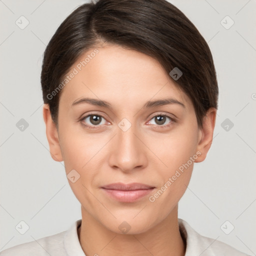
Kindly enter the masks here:
M 118 234 L 105 228 L 85 209 L 77 230 L 78 239 L 86 256 L 115 255 L 185 255 L 185 239 L 178 228 L 177 205 L 160 223 L 139 234 Z

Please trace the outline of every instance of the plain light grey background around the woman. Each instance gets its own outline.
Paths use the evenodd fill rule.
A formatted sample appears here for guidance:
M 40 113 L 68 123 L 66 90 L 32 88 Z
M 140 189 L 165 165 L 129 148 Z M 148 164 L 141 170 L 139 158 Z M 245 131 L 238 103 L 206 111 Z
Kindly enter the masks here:
M 56 28 L 84 2 L 0 0 L 0 250 L 61 232 L 81 218 L 63 162 L 49 154 L 40 68 Z M 204 236 L 255 255 L 256 1 L 170 2 L 208 42 L 219 84 L 212 146 L 194 165 L 179 218 Z M 24 29 L 15 23 L 21 15 L 29 21 Z M 221 22 L 226 15 L 234 21 L 228 29 L 231 20 Z M 23 131 L 16 126 L 21 118 L 29 124 Z M 29 226 L 24 234 L 15 229 L 21 220 Z

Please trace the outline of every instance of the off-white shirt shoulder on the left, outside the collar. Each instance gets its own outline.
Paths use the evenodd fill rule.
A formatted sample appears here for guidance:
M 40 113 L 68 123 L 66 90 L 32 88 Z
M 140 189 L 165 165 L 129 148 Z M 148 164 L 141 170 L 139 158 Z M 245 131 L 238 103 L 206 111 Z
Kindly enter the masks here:
M 63 239 L 66 231 L 21 243 L 0 252 L 0 256 L 66 255 Z

